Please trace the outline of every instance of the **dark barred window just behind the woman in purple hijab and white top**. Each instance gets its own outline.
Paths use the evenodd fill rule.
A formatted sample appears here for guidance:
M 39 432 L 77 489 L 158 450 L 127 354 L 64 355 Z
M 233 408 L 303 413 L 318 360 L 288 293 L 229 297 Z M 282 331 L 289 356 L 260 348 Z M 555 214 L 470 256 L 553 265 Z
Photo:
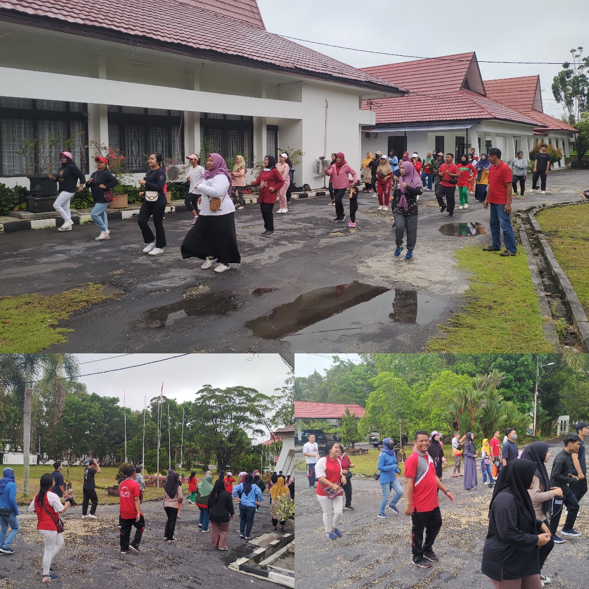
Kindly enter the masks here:
M 253 167 L 253 125 L 253 117 L 201 112 L 201 144 L 207 140 L 226 159 L 242 154 L 247 167 Z

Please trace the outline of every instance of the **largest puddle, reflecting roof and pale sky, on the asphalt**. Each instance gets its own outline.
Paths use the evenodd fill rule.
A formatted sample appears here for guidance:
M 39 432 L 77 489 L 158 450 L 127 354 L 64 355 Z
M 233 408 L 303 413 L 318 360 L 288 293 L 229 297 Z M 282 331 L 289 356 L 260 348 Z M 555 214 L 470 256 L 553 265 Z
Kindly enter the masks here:
M 305 343 L 358 333 L 378 323 L 428 325 L 438 319 L 444 306 L 441 299 L 416 289 L 352 282 L 301 294 L 292 303 L 276 307 L 270 315 L 247 322 L 245 327 L 256 336 L 284 338 L 303 349 Z

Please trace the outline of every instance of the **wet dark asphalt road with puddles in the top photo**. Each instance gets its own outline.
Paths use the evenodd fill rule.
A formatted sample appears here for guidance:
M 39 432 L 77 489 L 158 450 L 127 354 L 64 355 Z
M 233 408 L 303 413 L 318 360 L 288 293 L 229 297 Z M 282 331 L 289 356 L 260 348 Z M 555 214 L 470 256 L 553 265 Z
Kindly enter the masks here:
M 552 174 L 551 190 L 517 199 L 514 209 L 577 198 L 589 173 Z M 54 352 L 421 352 L 438 323 L 459 311 L 468 287 L 454 250 L 489 243 L 488 212 L 472 199 L 453 219 L 434 193 L 419 201 L 412 260 L 393 256 L 390 211 L 360 195 L 357 227 L 333 223 L 329 198 L 293 200 L 263 238 L 257 205 L 236 211 L 242 263 L 216 274 L 182 260 L 190 216 L 168 214 L 168 246 L 141 253 L 134 219 L 113 221 L 111 239 L 94 241 L 93 224 L 65 233 L 35 230 L 0 236 L 0 294 L 55 294 L 106 284 L 116 301 L 59 322 L 73 329 Z M 468 238 L 468 239 L 465 239 Z

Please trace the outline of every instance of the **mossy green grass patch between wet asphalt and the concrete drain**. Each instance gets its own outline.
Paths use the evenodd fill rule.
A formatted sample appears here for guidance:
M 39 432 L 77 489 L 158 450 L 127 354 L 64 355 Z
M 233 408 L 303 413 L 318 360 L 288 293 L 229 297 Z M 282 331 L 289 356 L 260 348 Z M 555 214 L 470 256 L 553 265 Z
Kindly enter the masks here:
M 442 336 L 431 339 L 428 352 L 551 352 L 542 333 L 538 299 L 528 261 L 501 257 L 468 246 L 455 253 L 458 267 L 472 273 L 464 295 L 464 312 L 439 326 Z

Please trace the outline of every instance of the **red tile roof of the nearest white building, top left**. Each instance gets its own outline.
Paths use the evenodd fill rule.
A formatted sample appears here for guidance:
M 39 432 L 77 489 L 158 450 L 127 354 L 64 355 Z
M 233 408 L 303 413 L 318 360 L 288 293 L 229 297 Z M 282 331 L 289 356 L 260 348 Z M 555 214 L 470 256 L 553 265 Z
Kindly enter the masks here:
M 212 7 L 212 9 L 211 9 Z M 153 17 L 160 26 L 153 26 Z M 90 2 L 0 0 L 0 17 L 180 55 L 211 59 L 390 92 L 388 82 L 275 35 L 263 28 L 255 0 L 115 0 L 97 10 Z M 202 23 L 202 25 L 199 25 Z

